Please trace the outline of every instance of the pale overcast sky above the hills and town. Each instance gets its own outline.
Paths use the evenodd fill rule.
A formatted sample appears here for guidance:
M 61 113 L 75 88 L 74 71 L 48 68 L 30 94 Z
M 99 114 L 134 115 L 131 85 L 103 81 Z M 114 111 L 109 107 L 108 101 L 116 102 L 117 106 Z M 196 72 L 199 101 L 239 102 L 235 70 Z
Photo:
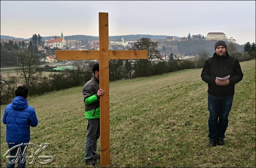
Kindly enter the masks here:
M 255 43 L 255 1 L 2 1 L 1 35 L 30 38 L 99 35 L 108 12 L 109 35 L 184 37 L 223 32 L 238 44 Z

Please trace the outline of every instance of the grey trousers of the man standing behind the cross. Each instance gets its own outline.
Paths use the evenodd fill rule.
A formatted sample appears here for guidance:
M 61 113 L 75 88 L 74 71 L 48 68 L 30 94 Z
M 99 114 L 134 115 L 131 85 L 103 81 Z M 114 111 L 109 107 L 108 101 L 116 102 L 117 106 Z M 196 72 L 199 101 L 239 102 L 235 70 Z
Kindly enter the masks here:
M 100 119 L 90 119 L 87 124 L 87 136 L 85 141 L 85 159 L 97 156 L 97 143 L 100 138 Z

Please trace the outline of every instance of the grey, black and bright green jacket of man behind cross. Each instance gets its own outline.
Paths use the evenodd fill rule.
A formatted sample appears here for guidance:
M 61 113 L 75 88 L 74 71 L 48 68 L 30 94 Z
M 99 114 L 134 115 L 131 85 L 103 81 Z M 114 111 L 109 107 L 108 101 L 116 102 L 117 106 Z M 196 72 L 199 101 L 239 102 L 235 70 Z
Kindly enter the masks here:
M 100 80 L 93 74 L 91 80 L 83 87 L 86 119 L 100 118 L 100 97 L 97 96 L 99 89 Z

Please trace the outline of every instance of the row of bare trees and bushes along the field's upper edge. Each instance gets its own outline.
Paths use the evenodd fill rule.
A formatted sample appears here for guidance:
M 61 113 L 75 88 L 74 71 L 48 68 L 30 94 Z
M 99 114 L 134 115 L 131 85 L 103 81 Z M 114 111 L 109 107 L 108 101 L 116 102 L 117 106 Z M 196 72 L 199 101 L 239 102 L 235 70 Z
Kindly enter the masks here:
M 228 52 L 232 53 L 239 61 L 255 59 L 255 44 L 245 44 L 243 53 L 236 52 L 235 46 L 230 43 Z M 148 50 L 148 59 L 138 60 L 110 60 L 109 78 L 110 81 L 159 75 L 168 72 L 180 71 L 183 69 L 201 68 L 210 55 L 207 51 L 199 53 L 197 60 L 179 60 L 176 55 L 170 54 L 169 60 L 160 58 L 160 51 L 157 50 L 158 43 L 149 38 L 141 38 L 130 47 L 130 50 Z M 176 57 L 175 57 L 176 56 Z M 82 61 L 74 62 L 74 70 L 62 73 L 53 73 L 49 76 L 43 75 L 45 69 L 39 68 L 38 55 L 30 51 L 19 51 L 17 58 L 21 62 L 17 68 L 20 77 L 29 88 L 29 95 L 40 95 L 49 91 L 67 89 L 74 86 L 82 86 L 91 79 L 92 64 L 89 68 L 82 65 Z M 17 79 L 3 79 L 1 77 L 1 103 L 9 102 L 14 97 L 14 89 L 17 86 Z M 11 82 L 10 82 L 11 81 Z

